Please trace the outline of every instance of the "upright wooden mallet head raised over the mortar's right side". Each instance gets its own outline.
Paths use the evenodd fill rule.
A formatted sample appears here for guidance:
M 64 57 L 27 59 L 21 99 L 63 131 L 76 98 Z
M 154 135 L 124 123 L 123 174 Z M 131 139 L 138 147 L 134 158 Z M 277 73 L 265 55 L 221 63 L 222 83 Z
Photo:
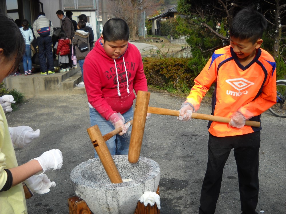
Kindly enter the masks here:
M 139 160 L 144 128 L 146 123 L 147 110 L 149 105 L 150 92 L 138 91 L 134 109 L 132 132 L 128 151 L 128 161 L 137 163 Z

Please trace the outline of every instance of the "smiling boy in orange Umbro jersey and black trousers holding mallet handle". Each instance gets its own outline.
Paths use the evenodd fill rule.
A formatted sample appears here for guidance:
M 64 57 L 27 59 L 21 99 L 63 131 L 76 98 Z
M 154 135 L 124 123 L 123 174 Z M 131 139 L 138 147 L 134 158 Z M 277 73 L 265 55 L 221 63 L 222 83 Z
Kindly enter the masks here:
M 215 213 L 223 168 L 232 149 L 237 163 L 242 214 L 257 214 L 258 153 L 261 127 L 244 126 L 276 103 L 276 64 L 260 46 L 267 22 L 250 8 L 242 9 L 230 27 L 230 46 L 216 50 L 180 109 L 181 121 L 198 111 L 215 83 L 212 115 L 231 118 L 229 124 L 208 123 L 208 163 L 200 197 L 200 214 Z

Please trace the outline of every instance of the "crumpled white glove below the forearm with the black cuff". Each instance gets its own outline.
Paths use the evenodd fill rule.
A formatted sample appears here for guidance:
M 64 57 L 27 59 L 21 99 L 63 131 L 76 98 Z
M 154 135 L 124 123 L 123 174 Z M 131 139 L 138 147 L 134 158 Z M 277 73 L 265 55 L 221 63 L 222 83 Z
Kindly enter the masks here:
M 50 181 L 46 174 L 33 175 L 24 181 L 31 191 L 38 194 L 45 194 L 50 191 L 51 187 L 55 187 L 54 181 Z

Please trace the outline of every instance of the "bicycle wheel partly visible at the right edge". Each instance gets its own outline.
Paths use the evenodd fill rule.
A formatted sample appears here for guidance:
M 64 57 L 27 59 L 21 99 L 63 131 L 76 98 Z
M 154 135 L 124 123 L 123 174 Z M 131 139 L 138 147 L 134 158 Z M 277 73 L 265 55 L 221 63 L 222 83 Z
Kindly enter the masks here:
M 269 111 L 275 115 L 276 117 L 286 118 L 286 108 L 284 106 L 285 98 L 286 98 L 286 81 L 284 82 L 276 82 L 277 87 L 277 103 L 269 108 Z

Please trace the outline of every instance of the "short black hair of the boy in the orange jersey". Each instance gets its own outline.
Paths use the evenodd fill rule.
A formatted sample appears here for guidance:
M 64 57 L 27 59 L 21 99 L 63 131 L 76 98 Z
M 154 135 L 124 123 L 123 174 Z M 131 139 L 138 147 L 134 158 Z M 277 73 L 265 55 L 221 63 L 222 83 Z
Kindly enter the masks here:
M 250 7 L 241 9 L 233 18 L 229 35 L 240 40 L 248 39 L 253 44 L 262 38 L 267 21 L 258 11 Z

